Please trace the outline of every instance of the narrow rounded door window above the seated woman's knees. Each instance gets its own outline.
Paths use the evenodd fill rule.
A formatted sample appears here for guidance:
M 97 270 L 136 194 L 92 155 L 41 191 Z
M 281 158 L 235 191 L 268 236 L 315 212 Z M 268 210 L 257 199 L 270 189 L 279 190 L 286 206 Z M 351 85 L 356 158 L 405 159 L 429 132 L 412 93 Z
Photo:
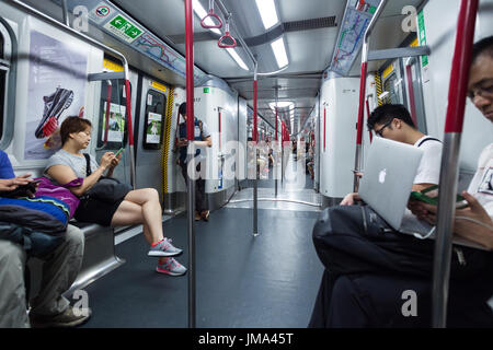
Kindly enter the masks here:
M 160 150 L 164 127 L 167 97 L 154 90 L 149 90 L 146 97 L 146 118 L 144 120 L 142 147 Z

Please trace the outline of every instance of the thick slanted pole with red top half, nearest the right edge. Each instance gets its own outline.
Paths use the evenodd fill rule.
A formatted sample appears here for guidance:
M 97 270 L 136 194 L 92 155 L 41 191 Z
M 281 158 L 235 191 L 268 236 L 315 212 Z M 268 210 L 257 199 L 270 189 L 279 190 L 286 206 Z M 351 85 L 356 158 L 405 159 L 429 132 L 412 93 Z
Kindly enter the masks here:
M 435 328 L 445 328 L 447 324 L 458 158 L 477 12 L 478 0 L 461 1 L 450 71 L 438 195 L 433 270 L 433 327 Z

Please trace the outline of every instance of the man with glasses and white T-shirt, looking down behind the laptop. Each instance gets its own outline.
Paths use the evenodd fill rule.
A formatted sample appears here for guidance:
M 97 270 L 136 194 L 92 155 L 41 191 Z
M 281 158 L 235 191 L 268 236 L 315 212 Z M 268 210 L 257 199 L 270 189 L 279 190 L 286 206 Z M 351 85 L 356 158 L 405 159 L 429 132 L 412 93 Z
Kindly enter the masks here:
M 417 130 L 410 113 L 403 105 L 378 106 L 369 116 L 367 126 L 368 130 L 374 131 L 378 137 L 412 144 L 424 151 L 414 177 L 413 190 L 421 191 L 438 184 L 442 142 Z M 341 201 L 341 206 L 352 206 L 356 200 L 360 200 L 357 192 L 348 194 Z

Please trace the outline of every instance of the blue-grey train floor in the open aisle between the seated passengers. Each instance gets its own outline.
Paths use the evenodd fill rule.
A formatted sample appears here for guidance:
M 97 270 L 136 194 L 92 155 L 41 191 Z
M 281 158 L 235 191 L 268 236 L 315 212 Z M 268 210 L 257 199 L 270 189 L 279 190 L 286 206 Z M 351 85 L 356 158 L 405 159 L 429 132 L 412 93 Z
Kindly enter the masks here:
M 314 211 L 222 208 L 196 224 L 197 327 L 307 327 L 322 276 L 311 241 Z M 163 224 L 184 248 L 186 218 Z M 137 235 L 116 246 L 126 264 L 85 288 L 93 316 L 84 327 L 187 327 L 187 275 L 154 272 L 157 259 Z

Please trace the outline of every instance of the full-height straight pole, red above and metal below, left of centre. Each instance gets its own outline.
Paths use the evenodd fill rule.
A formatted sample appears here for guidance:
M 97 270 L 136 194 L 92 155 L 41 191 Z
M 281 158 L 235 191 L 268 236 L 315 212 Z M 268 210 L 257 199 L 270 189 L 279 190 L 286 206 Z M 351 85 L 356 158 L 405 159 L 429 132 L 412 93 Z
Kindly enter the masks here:
M 185 0 L 185 54 L 186 54 L 186 139 L 188 140 L 187 164 L 195 171 L 194 140 L 194 32 L 192 0 Z M 188 167 L 190 168 L 190 167 Z M 195 182 L 187 173 L 187 229 L 188 229 L 188 328 L 195 328 Z

